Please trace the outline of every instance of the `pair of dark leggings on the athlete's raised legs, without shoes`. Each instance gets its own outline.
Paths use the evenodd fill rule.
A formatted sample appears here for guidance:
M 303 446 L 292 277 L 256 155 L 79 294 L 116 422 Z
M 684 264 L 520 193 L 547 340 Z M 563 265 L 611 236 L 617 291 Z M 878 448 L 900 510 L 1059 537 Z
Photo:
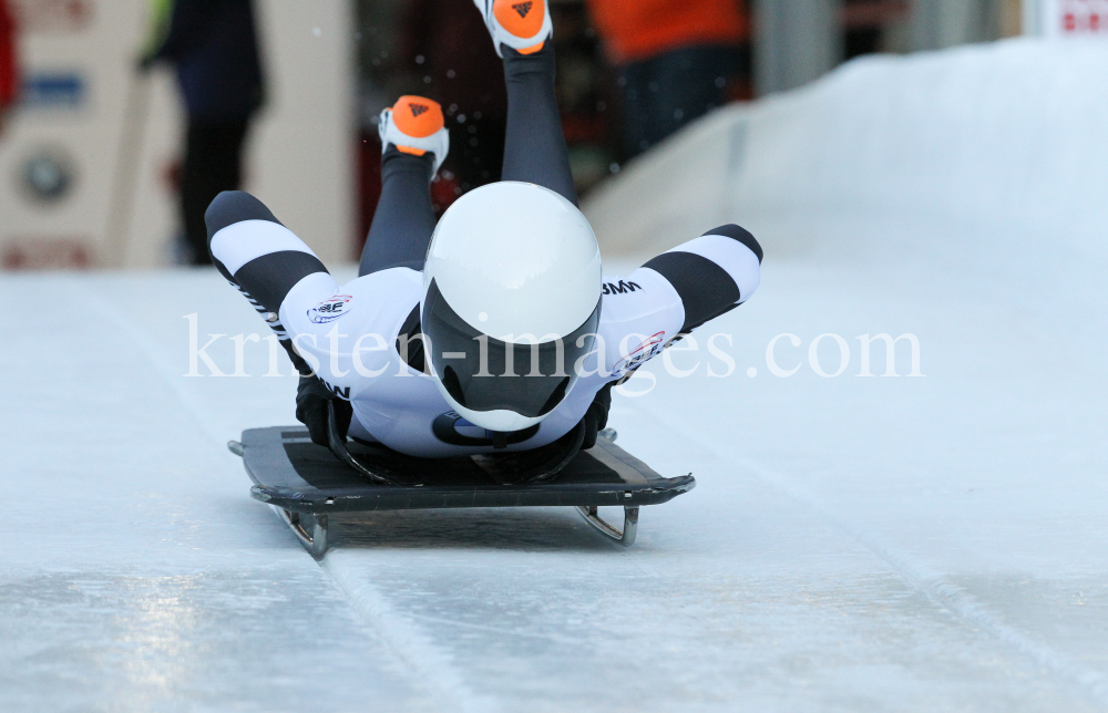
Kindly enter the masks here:
M 570 155 L 554 96 L 554 43 L 540 52 L 519 54 L 504 48 L 507 82 L 507 131 L 504 180 L 523 180 L 550 188 L 577 205 Z M 366 238 L 358 275 L 393 267 L 423 269 L 434 231 L 428 186 L 430 156 L 389 148 L 381 159 L 381 198 Z

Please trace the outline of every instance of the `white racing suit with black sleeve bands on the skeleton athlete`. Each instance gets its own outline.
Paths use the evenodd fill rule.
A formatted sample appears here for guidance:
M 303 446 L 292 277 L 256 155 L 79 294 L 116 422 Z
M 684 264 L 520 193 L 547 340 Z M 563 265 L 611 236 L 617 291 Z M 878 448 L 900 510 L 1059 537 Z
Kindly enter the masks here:
M 261 206 L 247 194 L 226 195 Z M 397 267 L 339 286 L 271 214 L 209 227 L 218 228 L 211 249 L 219 270 L 267 318 L 301 373 L 307 362 L 335 396 L 350 402 L 350 436 L 421 457 L 493 451 L 492 434 L 453 413 L 424 373 L 421 272 Z M 758 287 L 760 262 L 753 237 L 731 225 L 626 278 L 605 277 L 596 343 L 575 365 L 579 378 L 537 428 L 519 432 L 526 437 L 512 438 L 507 450 L 536 448 L 574 428 L 607 384 L 746 301 Z

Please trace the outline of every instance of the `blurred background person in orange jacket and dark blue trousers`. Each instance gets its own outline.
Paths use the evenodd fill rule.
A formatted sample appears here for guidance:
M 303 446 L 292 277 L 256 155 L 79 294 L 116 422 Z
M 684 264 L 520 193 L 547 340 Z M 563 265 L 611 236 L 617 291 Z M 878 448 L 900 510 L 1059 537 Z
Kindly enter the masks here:
M 586 0 L 618 69 L 630 158 L 725 103 L 749 42 L 743 0 Z

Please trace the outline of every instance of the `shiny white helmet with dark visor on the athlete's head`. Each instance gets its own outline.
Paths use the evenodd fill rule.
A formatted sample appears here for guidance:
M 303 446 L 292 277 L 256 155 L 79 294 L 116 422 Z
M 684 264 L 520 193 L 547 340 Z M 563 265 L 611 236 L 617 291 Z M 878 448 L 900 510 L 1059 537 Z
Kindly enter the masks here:
M 553 190 L 505 180 L 454 202 L 431 238 L 420 302 L 447 402 L 490 431 L 542 421 L 592 349 L 601 281 L 593 229 Z

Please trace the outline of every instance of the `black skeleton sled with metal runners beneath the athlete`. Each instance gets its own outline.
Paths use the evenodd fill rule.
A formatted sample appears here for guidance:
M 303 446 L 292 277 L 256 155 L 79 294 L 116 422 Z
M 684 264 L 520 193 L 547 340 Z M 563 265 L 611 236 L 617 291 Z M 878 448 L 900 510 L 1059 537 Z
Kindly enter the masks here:
M 613 435 L 605 435 L 578 453 L 557 478 L 523 485 L 500 485 L 466 457 L 396 454 L 389 466 L 404 484 L 378 485 L 314 444 L 301 426 L 250 428 L 243 432 L 242 442 L 227 445 L 243 457 L 254 480 L 250 496 L 273 506 L 305 548 L 322 557 L 328 548 L 328 515 L 363 510 L 570 506 L 604 535 L 632 545 L 638 508 L 667 503 L 691 490 L 696 480 L 691 475 L 663 477 L 617 446 Z M 351 446 L 351 451 L 357 447 Z M 372 448 L 368 453 L 379 454 Z M 596 508 L 607 505 L 624 508 L 622 530 L 597 516 Z

